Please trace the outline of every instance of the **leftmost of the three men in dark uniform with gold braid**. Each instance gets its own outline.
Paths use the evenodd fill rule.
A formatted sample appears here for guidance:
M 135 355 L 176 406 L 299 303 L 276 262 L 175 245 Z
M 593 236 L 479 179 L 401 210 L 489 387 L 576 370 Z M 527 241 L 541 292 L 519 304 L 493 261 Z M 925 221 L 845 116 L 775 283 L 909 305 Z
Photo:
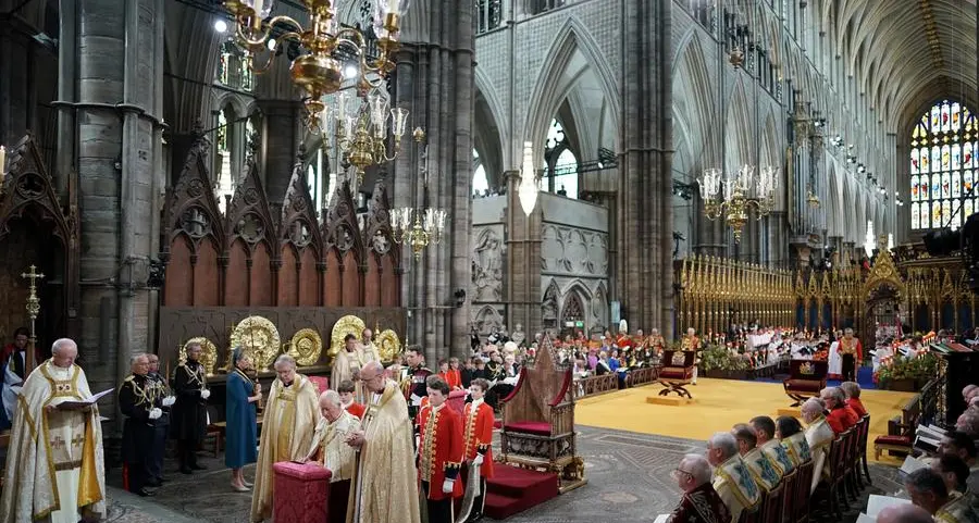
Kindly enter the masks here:
M 162 398 L 156 382 L 147 376 L 146 354 L 133 358 L 133 374 L 119 388 L 119 408 L 126 416 L 123 423 L 123 486 L 139 496 L 152 496 L 146 489 L 157 485 L 150 468 L 157 421 L 163 415 Z

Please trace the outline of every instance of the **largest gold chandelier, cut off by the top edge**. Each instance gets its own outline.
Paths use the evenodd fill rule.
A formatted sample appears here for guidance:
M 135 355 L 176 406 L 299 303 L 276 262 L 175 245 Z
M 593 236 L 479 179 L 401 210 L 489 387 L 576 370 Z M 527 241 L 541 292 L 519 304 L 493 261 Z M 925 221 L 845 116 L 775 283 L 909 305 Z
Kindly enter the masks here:
M 363 32 L 339 26 L 336 17 L 337 1 L 302 0 L 309 13 L 308 27 L 285 15 L 273 16 L 265 22 L 274 3 L 274 0 L 224 0 L 224 8 L 237 21 L 236 41 L 245 52 L 251 55 L 270 51 L 264 65 L 251 66 L 253 73 L 268 71 L 277 54 L 269 49 L 274 27 L 288 29 L 276 36 L 275 46 L 292 40 L 307 51 L 293 60 L 289 72 L 293 83 L 305 91 L 303 103 L 309 122 L 314 121 L 323 111 L 323 97 L 340 90 L 347 66 L 338 58 L 340 53 L 352 53 L 358 58 L 357 88 L 361 95 L 381 86 L 388 73 L 394 71 L 393 57 L 400 47 L 400 20 L 408 10 L 408 0 L 374 1 L 374 35 L 377 37 L 379 49 L 376 58 L 368 57 L 368 42 Z M 356 136 L 355 133 L 355 139 Z

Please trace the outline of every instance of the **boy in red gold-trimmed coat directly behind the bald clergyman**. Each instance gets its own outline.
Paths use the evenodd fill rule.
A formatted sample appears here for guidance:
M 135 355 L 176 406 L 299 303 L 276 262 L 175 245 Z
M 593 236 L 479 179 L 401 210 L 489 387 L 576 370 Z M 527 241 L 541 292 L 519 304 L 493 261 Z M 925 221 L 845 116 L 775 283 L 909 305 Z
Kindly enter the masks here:
M 430 376 L 429 404 L 418 413 L 418 481 L 429 505 L 429 523 L 455 523 L 453 500 L 462 497 L 462 420 L 445 403 L 448 384 Z

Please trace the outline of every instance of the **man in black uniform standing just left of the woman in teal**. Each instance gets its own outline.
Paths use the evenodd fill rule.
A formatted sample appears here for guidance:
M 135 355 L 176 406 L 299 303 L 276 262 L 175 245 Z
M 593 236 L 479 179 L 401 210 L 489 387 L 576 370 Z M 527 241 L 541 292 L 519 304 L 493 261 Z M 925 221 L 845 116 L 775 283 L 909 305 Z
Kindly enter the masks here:
M 170 433 L 177 440 L 181 472 L 201 470 L 197 464 L 197 448 L 208 428 L 208 402 L 200 397 L 206 387 L 203 365 L 187 360 L 173 371 L 173 394 L 176 402 L 171 408 Z

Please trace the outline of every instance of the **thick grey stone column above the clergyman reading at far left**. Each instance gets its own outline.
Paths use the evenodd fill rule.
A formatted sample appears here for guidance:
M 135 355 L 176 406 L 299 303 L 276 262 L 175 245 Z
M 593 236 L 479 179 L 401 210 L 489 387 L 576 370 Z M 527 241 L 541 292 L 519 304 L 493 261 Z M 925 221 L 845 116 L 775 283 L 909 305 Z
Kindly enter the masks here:
M 117 385 L 129 373 L 129 356 L 151 347 L 145 284 L 159 239 L 163 1 L 80 4 L 76 74 L 60 78 L 60 92 L 77 92 L 65 101 L 64 122 L 74 122 L 77 139 L 80 270 L 88 282 L 78 346 L 92 388 Z M 100 328 L 107 311 L 109 328 Z

